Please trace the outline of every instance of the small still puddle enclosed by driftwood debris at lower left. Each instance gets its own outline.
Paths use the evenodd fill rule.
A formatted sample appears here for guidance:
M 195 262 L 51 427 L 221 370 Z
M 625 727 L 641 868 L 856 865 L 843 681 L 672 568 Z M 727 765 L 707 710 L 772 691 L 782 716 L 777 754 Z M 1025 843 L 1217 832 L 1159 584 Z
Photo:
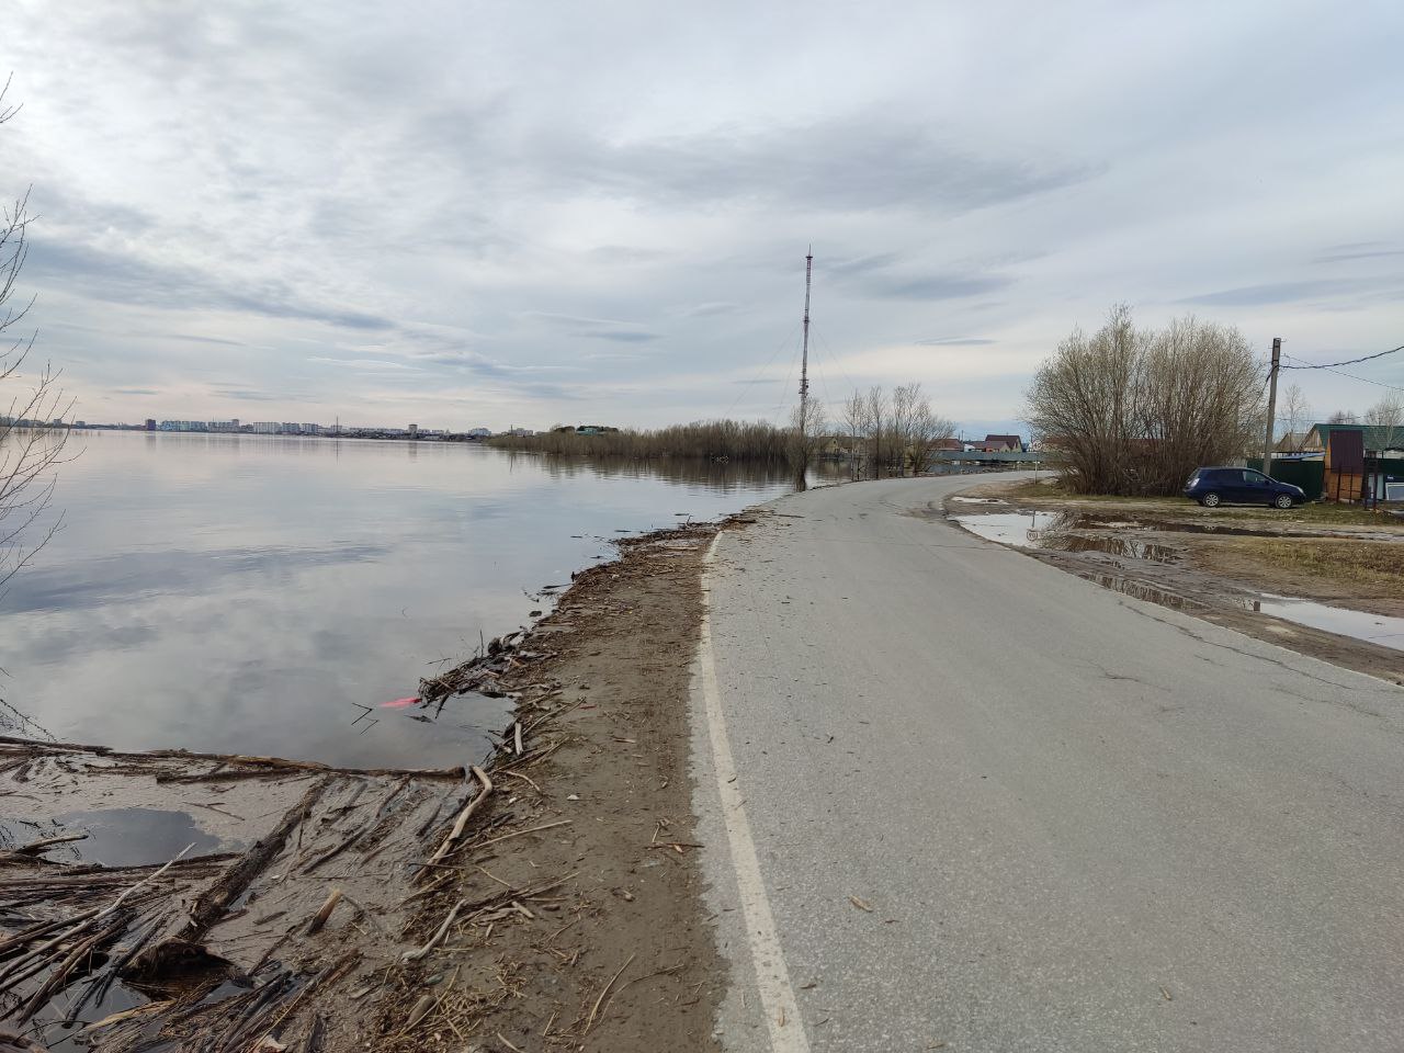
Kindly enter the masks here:
M 164 863 L 185 845 L 191 855 L 244 848 L 240 841 L 223 841 L 205 833 L 185 812 L 160 809 L 104 809 L 70 812 L 56 819 L 0 819 L 0 845 L 20 848 L 49 837 L 86 833 L 80 841 L 56 844 L 45 859 L 104 866 L 149 866 Z

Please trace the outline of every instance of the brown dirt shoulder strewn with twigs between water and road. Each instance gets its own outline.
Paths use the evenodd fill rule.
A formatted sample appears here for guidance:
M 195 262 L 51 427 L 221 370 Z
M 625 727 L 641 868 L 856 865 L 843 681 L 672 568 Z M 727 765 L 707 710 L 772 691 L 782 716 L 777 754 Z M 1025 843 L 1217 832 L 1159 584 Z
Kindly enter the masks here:
M 508 729 L 472 833 L 427 876 L 411 935 L 430 942 L 446 924 L 442 943 L 378 995 L 361 1049 L 717 1049 L 724 967 L 687 758 L 702 556 L 717 529 L 619 542 L 619 560 L 578 573 L 497 654 L 522 753 Z M 473 681 L 472 664 L 448 678 Z

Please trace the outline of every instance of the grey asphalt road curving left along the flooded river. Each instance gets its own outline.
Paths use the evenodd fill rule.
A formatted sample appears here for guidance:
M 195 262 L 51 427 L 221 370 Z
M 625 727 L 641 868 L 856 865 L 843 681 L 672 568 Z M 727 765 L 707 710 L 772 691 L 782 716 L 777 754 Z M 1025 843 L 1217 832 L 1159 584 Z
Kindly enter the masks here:
M 717 541 L 724 1047 L 1404 1049 L 1404 691 L 929 514 L 969 484 Z

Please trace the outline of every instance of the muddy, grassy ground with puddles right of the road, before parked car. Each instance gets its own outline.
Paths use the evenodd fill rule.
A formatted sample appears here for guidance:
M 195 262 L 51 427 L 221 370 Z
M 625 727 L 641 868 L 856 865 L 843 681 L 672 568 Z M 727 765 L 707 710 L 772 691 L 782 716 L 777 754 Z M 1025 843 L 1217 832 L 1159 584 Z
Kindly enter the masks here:
M 1105 588 L 1404 684 L 1400 650 L 1261 609 L 1264 597 L 1271 595 L 1404 616 L 1404 518 L 1323 505 L 1209 510 L 1175 498 L 1080 498 L 1052 480 L 987 483 L 946 498 L 934 512 L 951 518 L 1028 514 L 1031 526 L 1036 524 L 1035 546 L 1025 548 L 1025 536 L 1011 543 L 1033 559 Z

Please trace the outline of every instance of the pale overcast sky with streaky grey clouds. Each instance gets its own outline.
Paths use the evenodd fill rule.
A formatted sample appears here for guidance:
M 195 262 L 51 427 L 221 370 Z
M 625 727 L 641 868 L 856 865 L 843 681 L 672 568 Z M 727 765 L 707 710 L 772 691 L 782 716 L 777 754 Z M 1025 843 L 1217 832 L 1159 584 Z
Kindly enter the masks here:
M 1404 343 L 1404 4 L 14 0 L 0 194 L 79 417 L 967 431 L 1111 303 Z M 1404 388 L 1404 355 L 1353 368 Z M 1299 375 L 1323 414 L 1387 389 Z M 1299 379 L 1293 376 L 1292 379 Z

